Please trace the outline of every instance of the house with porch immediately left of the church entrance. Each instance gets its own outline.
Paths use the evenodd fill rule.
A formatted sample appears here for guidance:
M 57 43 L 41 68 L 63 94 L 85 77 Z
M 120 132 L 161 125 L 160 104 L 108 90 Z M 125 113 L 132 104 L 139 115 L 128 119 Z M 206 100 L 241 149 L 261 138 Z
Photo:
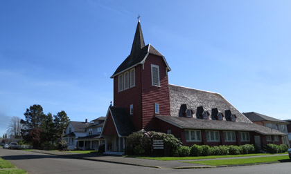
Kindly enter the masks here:
M 98 147 L 105 143 L 104 139 L 100 137 L 100 133 L 103 128 L 105 117 L 99 117 L 98 119 L 91 120 L 93 124 L 86 128 L 86 136 L 78 137 L 78 146 L 82 150 L 94 149 L 98 150 Z

